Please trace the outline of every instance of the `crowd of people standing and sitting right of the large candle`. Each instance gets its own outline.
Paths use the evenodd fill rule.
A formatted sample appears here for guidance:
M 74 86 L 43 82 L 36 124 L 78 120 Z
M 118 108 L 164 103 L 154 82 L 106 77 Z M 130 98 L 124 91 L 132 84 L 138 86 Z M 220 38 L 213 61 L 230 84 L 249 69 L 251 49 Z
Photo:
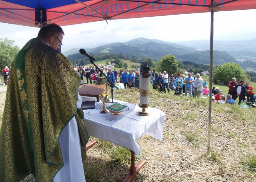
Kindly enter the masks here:
M 189 97 L 200 97 L 201 95 L 209 96 L 209 89 L 206 79 L 203 79 L 199 73 L 193 76 L 193 73 L 188 73 L 187 76 L 181 75 L 180 73 L 172 74 L 168 76 L 166 71 L 156 73 L 155 70 L 151 70 L 151 84 L 154 89 L 160 92 L 166 93 L 166 89 L 170 94 L 170 90 L 174 90 L 175 95 L 184 95 L 185 97 L 189 94 Z M 222 94 L 222 91 L 216 87 L 212 89 L 212 101 L 218 104 L 229 103 L 236 104 L 235 100 L 238 98 L 238 104 L 241 101 L 256 102 L 256 96 L 254 96 L 253 87 L 250 83 L 243 80 L 236 82 L 236 78 L 232 78 L 232 81 L 228 84 L 229 90 L 227 97 Z M 246 99 L 245 99 L 246 96 Z

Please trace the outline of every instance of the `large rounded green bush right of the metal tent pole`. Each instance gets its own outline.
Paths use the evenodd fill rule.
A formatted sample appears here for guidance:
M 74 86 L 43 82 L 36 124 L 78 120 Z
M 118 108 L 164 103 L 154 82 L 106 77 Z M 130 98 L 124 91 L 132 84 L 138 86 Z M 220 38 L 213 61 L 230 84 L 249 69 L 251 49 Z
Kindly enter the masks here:
M 243 71 L 243 68 L 234 62 L 227 62 L 223 65 L 219 65 L 213 71 L 213 82 L 230 82 L 232 78 L 235 77 L 236 80 L 248 80 L 247 75 Z

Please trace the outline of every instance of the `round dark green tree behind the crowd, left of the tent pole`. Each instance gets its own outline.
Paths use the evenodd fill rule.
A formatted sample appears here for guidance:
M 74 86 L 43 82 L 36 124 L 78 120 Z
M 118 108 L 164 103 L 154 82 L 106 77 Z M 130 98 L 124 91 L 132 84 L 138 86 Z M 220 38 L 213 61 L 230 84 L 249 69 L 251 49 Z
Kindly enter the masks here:
M 174 74 L 178 69 L 178 61 L 171 54 L 167 54 L 163 56 L 162 59 L 159 60 L 157 65 L 157 71 L 166 71 L 169 74 Z

